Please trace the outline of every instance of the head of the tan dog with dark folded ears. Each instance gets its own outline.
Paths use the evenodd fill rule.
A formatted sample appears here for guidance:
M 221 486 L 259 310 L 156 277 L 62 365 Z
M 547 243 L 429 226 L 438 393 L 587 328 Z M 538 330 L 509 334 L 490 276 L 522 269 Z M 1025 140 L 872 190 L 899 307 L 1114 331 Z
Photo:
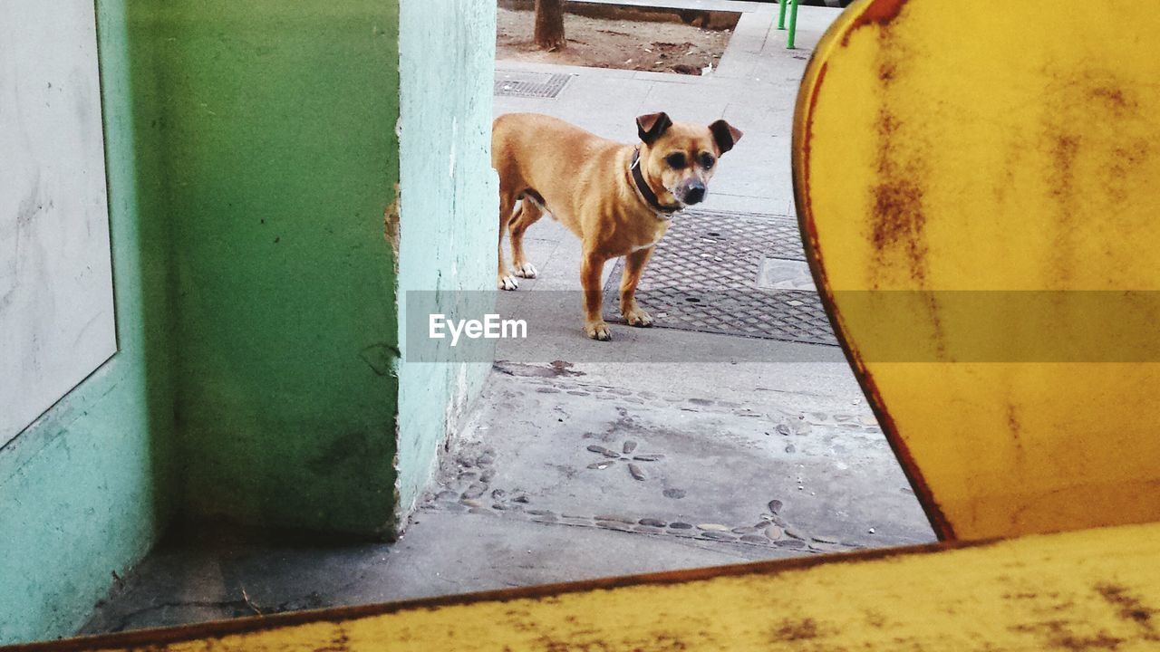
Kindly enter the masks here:
M 724 119 L 701 126 L 673 122 L 664 113 L 638 117 L 637 131 L 643 143 L 640 172 L 661 203 L 682 207 L 704 201 L 717 159 L 741 139 L 741 132 Z

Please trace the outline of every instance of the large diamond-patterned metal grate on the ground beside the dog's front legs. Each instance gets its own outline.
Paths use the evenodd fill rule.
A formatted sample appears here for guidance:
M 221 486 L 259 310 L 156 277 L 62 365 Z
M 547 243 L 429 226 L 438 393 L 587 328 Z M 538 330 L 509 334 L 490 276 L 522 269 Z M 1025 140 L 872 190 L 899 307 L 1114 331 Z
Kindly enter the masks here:
M 657 245 L 637 302 L 662 328 L 836 346 L 817 291 L 776 289 L 766 278 L 770 262 L 809 275 L 791 218 L 689 210 L 673 218 Z M 623 270 L 621 259 L 604 288 L 609 321 L 623 323 L 617 305 Z

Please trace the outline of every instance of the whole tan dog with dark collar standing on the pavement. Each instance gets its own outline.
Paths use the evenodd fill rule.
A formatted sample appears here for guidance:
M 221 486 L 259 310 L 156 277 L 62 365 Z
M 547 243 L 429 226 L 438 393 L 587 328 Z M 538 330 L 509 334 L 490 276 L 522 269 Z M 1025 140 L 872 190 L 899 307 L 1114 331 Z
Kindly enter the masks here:
M 625 256 L 621 313 L 631 326 L 652 326 L 635 295 L 653 245 L 674 212 L 705 198 L 718 157 L 741 138 L 723 119 L 701 126 L 662 113 L 638 117 L 637 131 L 640 143 L 624 145 L 538 114 L 502 115 L 492 125 L 492 165 L 500 175 L 496 284 L 519 287 L 503 262 L 508 230 L 515 275 L 536 277 L 523 255 L 523 232 L 550 212 L 582 242 L 583 331 L 594 340 L 611 338 L 601 317 L 600 276 L 616 256 Z

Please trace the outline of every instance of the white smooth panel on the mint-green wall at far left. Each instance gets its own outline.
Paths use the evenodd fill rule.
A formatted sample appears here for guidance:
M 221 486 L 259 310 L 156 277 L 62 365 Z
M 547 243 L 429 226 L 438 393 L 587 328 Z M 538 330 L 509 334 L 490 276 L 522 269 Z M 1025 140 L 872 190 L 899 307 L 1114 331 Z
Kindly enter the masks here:
M 0 0 L 0 445 L 116 350 L 93 0 Z

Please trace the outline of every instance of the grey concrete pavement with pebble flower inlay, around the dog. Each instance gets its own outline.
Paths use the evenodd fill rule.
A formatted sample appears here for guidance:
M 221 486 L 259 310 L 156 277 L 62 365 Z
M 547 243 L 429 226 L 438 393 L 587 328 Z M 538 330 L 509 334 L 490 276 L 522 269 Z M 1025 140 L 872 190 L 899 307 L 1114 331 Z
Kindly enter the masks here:
M 706 208 L 791 216 L 797 85 L 839 12 L 802 7 L 799 46 L 785 50 L 776 5 L 670 1 L 742 12 L 712 74 L 501 60 L 498 80 L 570 79 L 554 99 L 496 97 L 496 114 L 544 113 L 623 142 L 636 138 L 635 118 L 645 113 L 706 124 L 724 117 L 745 137 L 722 159 Z M 543 219 L 525 248 L 541 277 L 502 294 L 501 309 L 545 313 L 550 333 L 535 346 L 558 362 L 500 347 L 484 396 L 401 541 L 174 543 L 85 631 L 934 539 L 836 347 L 615 324 L 612 342 L 594 342 L 580 331 L 578 302 L 531 300 L 579 290 L 577 239 Z M 807 274 L 804 262 L 784 262 L 786 275 Z M 712 352 L 716 361 L 612 362 L 681 350 Z

